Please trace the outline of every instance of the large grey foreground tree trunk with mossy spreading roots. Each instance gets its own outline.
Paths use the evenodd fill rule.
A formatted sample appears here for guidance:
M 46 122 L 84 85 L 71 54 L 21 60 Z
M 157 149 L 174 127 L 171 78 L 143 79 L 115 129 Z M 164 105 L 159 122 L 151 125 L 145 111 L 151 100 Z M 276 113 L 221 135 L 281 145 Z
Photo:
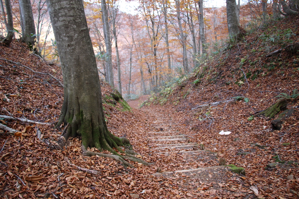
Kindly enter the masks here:
M 106 126 L 100 80 L 97 63 L 89 36 L 82 0 L 47 0 L 48 10 L 53 26 L 57 49 L 60 56 L 64 81 L 64 101 L 60 118 L 56 126 L 69 123 L 65 135 L 75 137 L 81 135 L 84 155 L 101 155 L 114 158 L 127 166 L 134 167 L 124 161 L 141 162 L 142 159 L 132 156 L 125 150 L 126 156 L 119 155 L 112 148 L 123 153 L 119 146 L 122 140 L 108 131 Z M 99 150 L 106 149 L 113 155 L 94 153 L 88 147 Z

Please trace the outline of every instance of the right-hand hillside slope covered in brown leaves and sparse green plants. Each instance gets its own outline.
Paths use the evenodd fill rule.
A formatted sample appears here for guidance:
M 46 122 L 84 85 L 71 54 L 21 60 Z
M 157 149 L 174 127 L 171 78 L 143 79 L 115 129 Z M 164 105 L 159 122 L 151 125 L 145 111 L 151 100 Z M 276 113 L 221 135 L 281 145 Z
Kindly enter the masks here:
M 219 153 L 227 164 L 245 168 L 237 186 L 256 186 L 259 198 L 297 198 L 299 97 L 291 96 L 299 89 L 298 42 L 298 16 L 269 22 L 231 44 L 220 59 L 202 61 L 176 86 L 152 95 L 142 109 L 163 112 L 193 141 Z M 295 112 L 273 130 L 271 118 L 253 115 L 274 104 L 278 95 L 287 95 L 287 108 Z M 220 135 L 222 130 L 231 133 Z

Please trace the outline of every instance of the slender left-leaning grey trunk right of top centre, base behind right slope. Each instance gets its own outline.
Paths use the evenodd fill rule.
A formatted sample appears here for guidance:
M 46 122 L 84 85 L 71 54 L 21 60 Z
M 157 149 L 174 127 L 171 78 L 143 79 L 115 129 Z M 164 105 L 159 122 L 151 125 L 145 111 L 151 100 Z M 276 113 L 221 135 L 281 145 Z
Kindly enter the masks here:
M 180 36 L 181 36 L 181 42 L 183 45 L 183 67 L 186 73 L 189 73 L 189 66 L 188 66 L 188 57 L 187 57 L 187 48 L 186 48 L 186 44 L 187 44 L 187 39 L 184 36 L 184 32 L 183 32 L 183 28 L 182 28 L 182 24 L 181 24 L 181 16 L 180 16 L 180 1 L 179 0 L 175 0 L 176 2 L 176 16 L 178 18 L 178 24 L 179 24 L 179 30 L 180 30 Z

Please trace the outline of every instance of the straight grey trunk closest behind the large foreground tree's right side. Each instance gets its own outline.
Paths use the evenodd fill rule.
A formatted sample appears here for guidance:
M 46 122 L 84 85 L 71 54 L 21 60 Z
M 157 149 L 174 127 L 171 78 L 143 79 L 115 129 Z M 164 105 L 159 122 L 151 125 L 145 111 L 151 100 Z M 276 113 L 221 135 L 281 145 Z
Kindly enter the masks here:
M 111 48 L 111 37 L 110 37 L 110 26 L 108 23 L 108 13 L 106 0 L 101 0 L 102 2 L 102 12 L 104 21 L 104 31 L 105 31 L 105 45 L 106 45 L 106 68 L 108 70 L 108 80 L 109 84 L 114 87 L 114 77 L 113 77 L 113 67 L 112 67 L 112 48 Z

